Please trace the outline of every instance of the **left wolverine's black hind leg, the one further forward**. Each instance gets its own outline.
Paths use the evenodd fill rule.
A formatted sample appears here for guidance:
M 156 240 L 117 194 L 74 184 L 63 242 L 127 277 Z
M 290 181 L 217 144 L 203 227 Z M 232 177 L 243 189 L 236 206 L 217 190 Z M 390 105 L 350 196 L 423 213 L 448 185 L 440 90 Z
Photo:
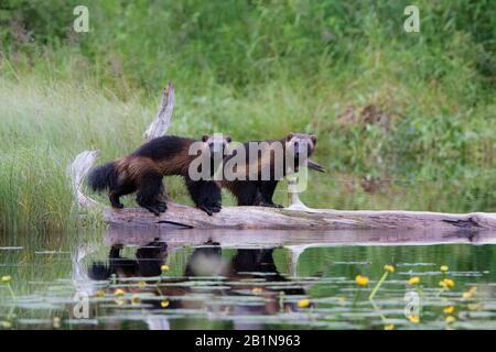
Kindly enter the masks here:
M 159 196 L 163 191 L 162 184 L 163 176 L 160 173 L 150 172 L 144 174 L 138 185 L 138 195 L 136 201 L 140 207 L 148 209 L 155 216 L 165 211 L 166 205 L 164 201 L 159 201 Z

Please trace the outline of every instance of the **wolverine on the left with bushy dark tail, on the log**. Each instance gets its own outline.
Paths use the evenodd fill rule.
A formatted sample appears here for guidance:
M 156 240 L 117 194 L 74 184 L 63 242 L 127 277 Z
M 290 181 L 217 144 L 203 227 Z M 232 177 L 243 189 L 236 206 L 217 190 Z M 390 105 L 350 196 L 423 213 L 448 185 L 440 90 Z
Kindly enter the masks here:
M 200 143 L 196 155 L 191 155 L 193 143 Z M 229 136 L 204 135 L 200 141 L 188 138 L 166 135 L 153 139 L 141 145 L 132 154 L 115 160 L 95 168 L 88 177 L 89 186 L 96 191 L 108 191 L 110 204 L 123 208 L 120 197 L 137 191 L 136 201 L 155 216 L 166 210 L 164 197 L 164 176 L 183 176 L 186 188 L 196 207 L 208 216 L 222 209 L 220 188 L 212 179 L 215 173 L 211 167 L 211 177 L 193 180 L 190 165 L 197 157 L 208 157 L 212 166 L 214 158 L 220 155 L 230 143 Z

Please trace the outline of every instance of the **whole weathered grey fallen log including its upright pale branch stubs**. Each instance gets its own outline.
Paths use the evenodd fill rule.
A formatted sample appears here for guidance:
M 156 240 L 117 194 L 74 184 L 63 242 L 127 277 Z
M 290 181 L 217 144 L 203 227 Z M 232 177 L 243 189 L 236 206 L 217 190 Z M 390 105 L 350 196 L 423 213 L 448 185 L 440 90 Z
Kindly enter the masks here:
M 174 107 L 172 84 L 163 91 L 155 119 L 144 133 L 145 141 L 163 135 Z M 98 156 L 97 151 L 85 151 L 68 168 L 71 185 L 79 208 L 101 207 L 83 193 L 87 173 Z M 299 198 L 296 177 L 288 177 L 290 206 L 285 209 L 261 207 L 225 207 L 209 217 L 196 208 L 169 202 L 168 211 L 155 217 L 142 208 L 104 209 L 104 219 L 114 226 L 137 228 L 190 229 L 266 229 L 266 230 L 353 230 L 353 229 L 435 229 L 446 231 L 496 230 L 496 213 L 440 213 L 427 211 L 338 211 L 311 209 Z

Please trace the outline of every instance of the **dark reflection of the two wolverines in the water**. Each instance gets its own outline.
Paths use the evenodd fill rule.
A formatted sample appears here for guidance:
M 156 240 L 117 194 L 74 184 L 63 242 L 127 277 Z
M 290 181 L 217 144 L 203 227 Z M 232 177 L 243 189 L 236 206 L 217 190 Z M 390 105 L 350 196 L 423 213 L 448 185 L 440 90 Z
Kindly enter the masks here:
M 193 249 L 181 277 L 161 276 L 162 265 L 168 257 L 166 243 L 155 240 L 140 246 L 136 250 L 136 258 L 122 257 L 122 248 L 121 244 L 115 244 L 110 249 L 107 262 L 91 263 L 88 267 L 88 277 L 93 280 L 111 280 L 127 293 L 148 293 L 155 296 L 141 301 L 147 309 L 163 310 L 164 300 L 157 297 L 169 297 L 166 300 L 169 310 L 188 309 L 218 317 L 274 315 L 296 309 L 295 301 L 282 300 L 281 296 L 305 294 L 301 284 L 292 283 L 279 273 L 273 260 L 273 248 L 237 249 L 231 257 L 226 258 L 223 257 L 220 244 L 208 241 Z M 151 277 L 157 280 L 152 283 L 148 280 L 148 285 L 129 285 L 132 278 L 144 280 Z M 208 283 L 207 279 L 212 282 Z M 200 285 L 194 285 L 195 283 Z M 198 293 L 203 293 L 203 296 L 194 299 L 193 295 Z M 211 295 L 211 299 L 202 299 L 205 294 Z M 255 295 L 257 299 L 242 300 L 242 297 L 249 295 Z M 235 300 L 218 304 L 215 297 L 219 296 L 233 296 Z M 147 321 L 152 329 L 169 327 L 164 317 L 160 319 L 149 317 Z M 234 321 L 234 327 L 261 329 L 263 324 Z

